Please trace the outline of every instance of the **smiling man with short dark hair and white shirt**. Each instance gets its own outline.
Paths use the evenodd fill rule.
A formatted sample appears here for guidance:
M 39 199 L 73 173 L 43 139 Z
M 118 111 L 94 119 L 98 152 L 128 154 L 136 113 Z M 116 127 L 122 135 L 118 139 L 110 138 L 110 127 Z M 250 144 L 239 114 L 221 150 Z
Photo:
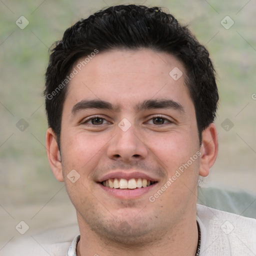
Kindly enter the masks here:
M 67 255 L 255 255 L 256 220 L 196 205 L 217 156 L 208 51 L 159 8 L 112 6 L 50 55 L 47 156 L 80 234 Z

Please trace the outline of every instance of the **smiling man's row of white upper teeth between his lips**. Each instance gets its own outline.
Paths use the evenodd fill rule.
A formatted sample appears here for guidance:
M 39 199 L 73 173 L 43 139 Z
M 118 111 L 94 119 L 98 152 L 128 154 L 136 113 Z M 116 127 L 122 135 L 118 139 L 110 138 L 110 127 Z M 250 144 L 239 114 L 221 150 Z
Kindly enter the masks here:
M 104 186 L 111 187 L 111 188 L 136 188 L 136 187 L 146 187 L 150 185 L 150 180 L 146 180 L 145 178 L 135 178 L 125 179 L 125 178 L 109 178 L 102 182 Z

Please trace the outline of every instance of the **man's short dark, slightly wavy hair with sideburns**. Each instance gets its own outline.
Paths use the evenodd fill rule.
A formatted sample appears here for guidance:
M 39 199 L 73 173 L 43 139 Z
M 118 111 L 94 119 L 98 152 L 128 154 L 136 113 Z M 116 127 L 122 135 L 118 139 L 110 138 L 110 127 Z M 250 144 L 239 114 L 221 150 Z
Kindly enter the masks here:
M 48 125 L 56 134 L 59 148 L 65 85 L 74 62 L 95 49 L 100 53 L 121 48 L 150 48 L 170 53 L 182 62 L 201 142 L 202 131 L 215 118 L 218 101 L 215 70 L 208 51 L 171 14 L 159 7 L 129 4 L 111 6 L 81 19 L 52 45 L 44 95 Z

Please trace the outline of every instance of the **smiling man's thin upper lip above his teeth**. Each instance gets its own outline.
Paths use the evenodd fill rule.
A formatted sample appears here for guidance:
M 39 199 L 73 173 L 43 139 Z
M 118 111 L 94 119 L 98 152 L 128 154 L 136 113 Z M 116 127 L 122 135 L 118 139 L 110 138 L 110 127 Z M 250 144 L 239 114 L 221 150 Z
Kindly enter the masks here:
M 158 181 L 156 177 L 150 176 L 149 174 L 146 174 L 140 171 L 112 171 L 100 177 L 98 179 L 98 182 L 102 182 L 109 178 L 124 178 L 124 179 L 145 178 L 150 181 Z

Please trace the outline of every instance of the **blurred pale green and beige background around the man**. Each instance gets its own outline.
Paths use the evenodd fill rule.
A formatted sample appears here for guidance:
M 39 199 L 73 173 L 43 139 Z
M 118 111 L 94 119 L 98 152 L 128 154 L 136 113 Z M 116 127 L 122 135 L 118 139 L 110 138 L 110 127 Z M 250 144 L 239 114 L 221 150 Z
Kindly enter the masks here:
M 44 147 L 48 48 L 78 19 L 121 3 L 165 7 L 206 45 L 220 94 L 219 154 L 201 185 L 256 193 L 255 0 L 0 0 L 0 249 L 21 236 L 15 229 L 20 220 L 28 234 L 76 221 Z M 22 15 L 29 21 L 24 29 L 15 23 Z M 227 15 L 234 21 L 229 29 L 220 23 Z M 22 118 L 28 124 L 23 131 L 16 126 Z

